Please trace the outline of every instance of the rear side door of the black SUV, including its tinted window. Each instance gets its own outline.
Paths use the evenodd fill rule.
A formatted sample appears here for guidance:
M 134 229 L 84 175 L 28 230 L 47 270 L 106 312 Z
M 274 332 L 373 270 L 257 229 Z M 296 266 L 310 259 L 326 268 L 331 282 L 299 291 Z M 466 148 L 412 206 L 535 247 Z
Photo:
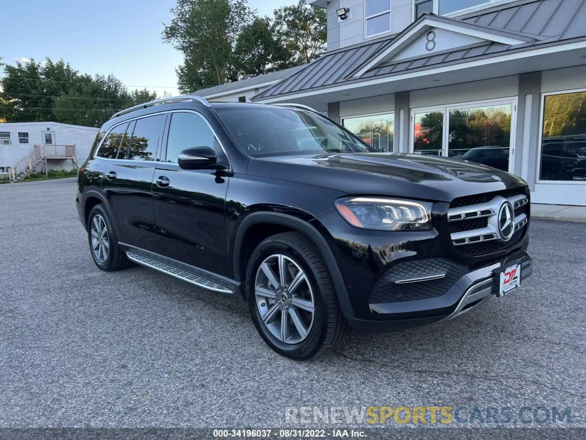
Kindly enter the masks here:
M 102 179 L 102 190 L 110 199 L 118 224 L 118 240 L 151 251 L 155 232 L 151 185 L 165 119 L 166 114 L 142 117 L 127 123 L 124 136 L 122 127 L 112 133 L 113 144 L 107 147 L 111 163 Z M 114 153 L 116 137 L 121 140 Z

